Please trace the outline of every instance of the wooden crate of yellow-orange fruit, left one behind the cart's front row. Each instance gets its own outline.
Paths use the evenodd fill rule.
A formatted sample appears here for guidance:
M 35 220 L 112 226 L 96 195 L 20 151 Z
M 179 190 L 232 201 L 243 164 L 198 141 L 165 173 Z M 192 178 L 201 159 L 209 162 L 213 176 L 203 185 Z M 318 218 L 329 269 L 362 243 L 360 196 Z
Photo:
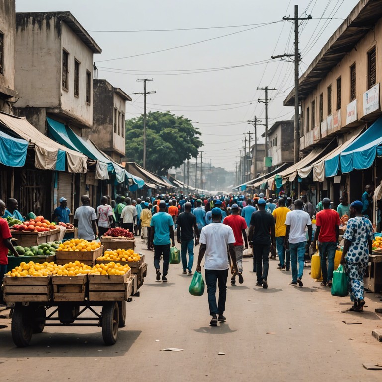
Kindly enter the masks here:
M 56 250 L 56 263 L 64 265 L 78 260 L 85 265 L 95 265 L 95 259 L 102 254 L 102 245 L 96 241 L 71 239 L 61 243 Z

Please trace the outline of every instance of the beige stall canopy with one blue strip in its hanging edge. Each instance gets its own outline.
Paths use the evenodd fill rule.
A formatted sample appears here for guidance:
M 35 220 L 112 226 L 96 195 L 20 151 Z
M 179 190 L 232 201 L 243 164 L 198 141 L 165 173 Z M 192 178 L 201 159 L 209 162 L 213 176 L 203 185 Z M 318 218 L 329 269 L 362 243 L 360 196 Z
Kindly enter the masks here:
M 19 118 L 0 113 L 0 122 L 34 145 L 37 169 L 65 171 L 65 164 L 67 164 L 70 173 L 86 173 L 85 155 L 48 138 L 33 127 L 25 117 Z

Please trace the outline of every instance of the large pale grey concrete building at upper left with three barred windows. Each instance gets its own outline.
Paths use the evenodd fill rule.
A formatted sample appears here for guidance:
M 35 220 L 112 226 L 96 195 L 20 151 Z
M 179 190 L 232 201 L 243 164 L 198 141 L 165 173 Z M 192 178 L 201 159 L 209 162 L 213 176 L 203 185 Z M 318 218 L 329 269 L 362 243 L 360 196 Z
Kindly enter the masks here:
M 101 53 L 70 12 L 16 13 L 15 113 L 42 133 L 46 117 L 80 135 L 93 124 L 93 54 Z

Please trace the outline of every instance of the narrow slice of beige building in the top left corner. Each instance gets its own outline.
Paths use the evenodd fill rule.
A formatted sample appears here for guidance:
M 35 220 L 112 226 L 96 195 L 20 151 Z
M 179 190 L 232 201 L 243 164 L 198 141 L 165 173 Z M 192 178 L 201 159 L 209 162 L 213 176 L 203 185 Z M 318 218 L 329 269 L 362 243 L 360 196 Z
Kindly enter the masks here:
M 15 15 L 14 0 L 0 1 L 0 111 L 9 114 L 19 96 L 14 87 Z

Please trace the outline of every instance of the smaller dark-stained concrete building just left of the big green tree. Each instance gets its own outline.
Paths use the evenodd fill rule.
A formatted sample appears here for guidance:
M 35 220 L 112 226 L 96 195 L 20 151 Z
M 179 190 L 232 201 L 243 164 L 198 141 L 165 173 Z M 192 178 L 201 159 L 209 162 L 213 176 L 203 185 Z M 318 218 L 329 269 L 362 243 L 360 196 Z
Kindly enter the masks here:
M 93 80 L 92 141 L 116 162 L 125 156 L 126 101 L 131 97 L 106 80 Z

